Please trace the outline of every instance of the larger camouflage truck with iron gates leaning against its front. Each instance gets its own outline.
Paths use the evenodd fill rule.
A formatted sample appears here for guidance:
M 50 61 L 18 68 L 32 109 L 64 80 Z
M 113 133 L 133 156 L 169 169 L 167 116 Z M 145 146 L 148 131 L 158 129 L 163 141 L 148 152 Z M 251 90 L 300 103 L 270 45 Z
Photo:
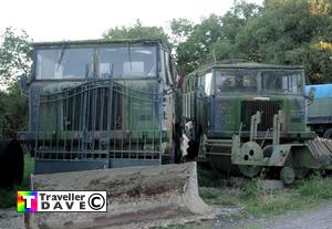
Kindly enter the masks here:
M 18 135 L 34 157 L 35 174 L 175 158 L 176 72 L 159 40 L 48 42 L 33 49 L 32 77 L 21 77 L 29 129 Z

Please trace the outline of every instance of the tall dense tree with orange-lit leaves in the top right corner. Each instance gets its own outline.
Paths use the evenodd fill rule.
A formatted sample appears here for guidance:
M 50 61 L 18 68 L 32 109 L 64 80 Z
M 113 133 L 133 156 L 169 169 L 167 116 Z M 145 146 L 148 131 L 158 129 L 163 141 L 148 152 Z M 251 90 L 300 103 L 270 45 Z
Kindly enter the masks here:
M 326 0 L 266 0 L 237 34 L 237 49 L 249 60 L 302 64 L 311 82 L 331 82 L 331 15 Z

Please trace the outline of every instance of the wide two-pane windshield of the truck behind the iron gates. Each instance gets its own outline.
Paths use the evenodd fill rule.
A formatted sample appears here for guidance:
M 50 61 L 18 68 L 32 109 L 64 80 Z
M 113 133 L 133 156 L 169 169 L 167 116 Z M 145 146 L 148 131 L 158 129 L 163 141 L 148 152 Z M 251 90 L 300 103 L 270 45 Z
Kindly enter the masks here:
M 60 48 L 37 51 L 38 80 L 156 76 L 156 46 Z

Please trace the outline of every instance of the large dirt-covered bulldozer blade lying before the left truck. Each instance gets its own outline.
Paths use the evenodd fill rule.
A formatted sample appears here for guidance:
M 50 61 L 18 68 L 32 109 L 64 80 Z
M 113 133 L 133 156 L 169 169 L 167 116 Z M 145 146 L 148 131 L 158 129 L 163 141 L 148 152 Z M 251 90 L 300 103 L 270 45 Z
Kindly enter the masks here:
M 107 212 L 25 214 L 28 229 L 151 228 L 215 217 L 198 196 L 196 163 L 32 177 L 33 190 L 106 190 Z

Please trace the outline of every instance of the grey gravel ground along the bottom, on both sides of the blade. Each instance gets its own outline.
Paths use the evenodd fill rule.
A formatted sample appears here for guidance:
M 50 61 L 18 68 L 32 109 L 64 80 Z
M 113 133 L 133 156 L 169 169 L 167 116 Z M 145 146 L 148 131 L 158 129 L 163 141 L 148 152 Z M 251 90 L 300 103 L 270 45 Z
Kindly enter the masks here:
M 332 228 L 332 204 L 303 209 L 268 218 L 235 218 L 231 209 L 221 209 L 215 220 L 169 228 L 181 229 L 330 229 Z M 0 209 L 0 229 L 23 229 L 23 215 L 15 208 Z

